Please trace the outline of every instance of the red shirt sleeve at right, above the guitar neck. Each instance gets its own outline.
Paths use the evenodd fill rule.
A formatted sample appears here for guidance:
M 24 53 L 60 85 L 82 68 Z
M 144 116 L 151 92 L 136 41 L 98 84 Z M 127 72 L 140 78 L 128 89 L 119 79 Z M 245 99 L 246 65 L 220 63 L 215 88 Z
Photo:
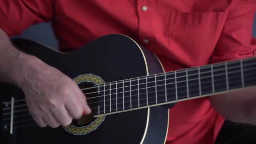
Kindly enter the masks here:
M 240 0 L 232 4 L 224 28 L 209 63 L 254 56 L 253 20 L 256 0 Z

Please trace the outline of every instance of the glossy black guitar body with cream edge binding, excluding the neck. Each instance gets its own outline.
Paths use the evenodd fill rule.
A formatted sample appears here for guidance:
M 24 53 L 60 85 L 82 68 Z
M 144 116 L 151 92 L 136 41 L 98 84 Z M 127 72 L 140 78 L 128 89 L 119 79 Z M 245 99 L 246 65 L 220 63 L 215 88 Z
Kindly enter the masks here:
M 21 51 L 37 56 L 72 79 L 93 74 L 107 83 L 163 72 L 152 53 L 123 35 L 107 35 L 69 53 L 59 53 L 29 40 L 16 39 L 13 43 Z M 11 85 L 0 87 L 0 91 L 4 93 L 2 101 L 11 101 L 11 96 L 24 97 L 20 89 Z M 1 104 L 1 108 L 4 107 Z M 5 118 L 5 115 L 1 116 Z M 83 135 L 69 133 L 61 126 L 40 128 L 37 125 L 13 129 L 11 135 L 5 131 L 3 118 L 2 144 L 163 144 L 169 115 L 164 106 L 107 115 L 99 127 Z M 19 123 L 13 123 L 13 128 L 17 125 Z

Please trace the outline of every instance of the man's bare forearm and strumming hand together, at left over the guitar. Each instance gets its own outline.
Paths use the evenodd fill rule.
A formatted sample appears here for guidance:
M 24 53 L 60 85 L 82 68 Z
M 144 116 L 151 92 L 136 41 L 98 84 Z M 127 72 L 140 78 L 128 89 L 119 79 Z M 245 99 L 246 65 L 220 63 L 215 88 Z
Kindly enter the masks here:
M 0 81 L 25 93 L 29 112 L 40 127 L 69 125 L 91 113 L 85 96 L 69 77 L 35 56 L 14 48 L 0 29 Z

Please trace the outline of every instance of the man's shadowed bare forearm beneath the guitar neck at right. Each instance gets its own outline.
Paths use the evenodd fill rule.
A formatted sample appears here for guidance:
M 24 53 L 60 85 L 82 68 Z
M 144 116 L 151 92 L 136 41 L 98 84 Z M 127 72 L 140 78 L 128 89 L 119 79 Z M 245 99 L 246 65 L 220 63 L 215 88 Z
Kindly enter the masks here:
M 228 120 L 256 125 L 256 86 L 211 96 L 210 101 Z

